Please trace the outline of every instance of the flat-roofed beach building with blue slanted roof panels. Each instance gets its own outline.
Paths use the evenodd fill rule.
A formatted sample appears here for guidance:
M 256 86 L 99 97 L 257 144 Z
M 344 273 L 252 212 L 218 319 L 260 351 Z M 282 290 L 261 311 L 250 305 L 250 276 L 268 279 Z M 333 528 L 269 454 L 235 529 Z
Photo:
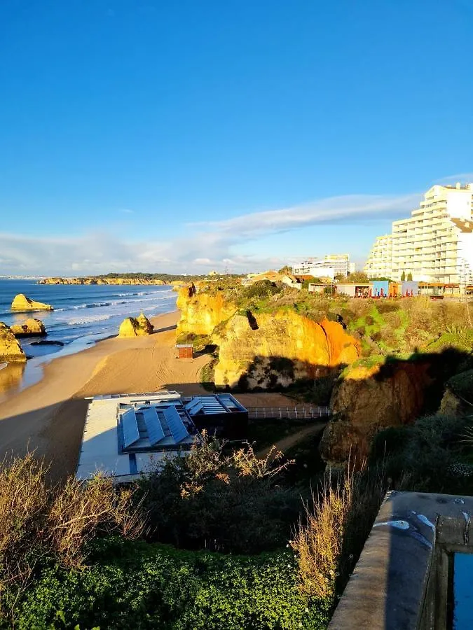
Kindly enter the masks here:
M 177 391 L 111 394 L 90 400 L 76 477 L 97 472 L 129 482 L 159 467 L 166 456 L 188 454 L 199 430 L 244 432 L 248 413 L 230 393 L 181 397 Z

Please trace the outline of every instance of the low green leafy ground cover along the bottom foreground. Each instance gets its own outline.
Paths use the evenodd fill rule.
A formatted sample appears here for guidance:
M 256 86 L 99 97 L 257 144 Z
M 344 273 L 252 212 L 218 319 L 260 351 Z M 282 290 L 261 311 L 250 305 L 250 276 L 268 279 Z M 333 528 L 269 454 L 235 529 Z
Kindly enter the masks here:
M 327 627 L 331 602 L 299 592 L 290 552 L 225 556 L 109 539 L 95 543 L 92 559 L 82 571 L 44 568 L 15 605 L 15 628 Z

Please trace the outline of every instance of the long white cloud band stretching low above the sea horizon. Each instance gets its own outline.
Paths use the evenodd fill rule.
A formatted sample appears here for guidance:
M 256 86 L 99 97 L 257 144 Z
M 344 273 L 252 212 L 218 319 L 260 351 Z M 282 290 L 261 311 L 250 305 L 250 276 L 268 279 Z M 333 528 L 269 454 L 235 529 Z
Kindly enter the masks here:
M 416 207 L 420 195 L 349 195 L 311 204 L 254 212 L 199 223 L 179 237 L 159 241 L 149 231 L 143 239 L 129 240 L 107 232 L 77 237 L 25 237 L 0 233 L 3 274 L 85 275 L 120 271 L 206 272 L 228 268 L 232 272 L 277 268 L 294 253 L 242 255 L 238 247 L 266 235 L 289 232 L 309 225 L 353 223 L 375 218 L 400 218 Z M 122 212 L 130 213 L 128 209 Z M 258 247 L 255 244 L 255 251 Z

